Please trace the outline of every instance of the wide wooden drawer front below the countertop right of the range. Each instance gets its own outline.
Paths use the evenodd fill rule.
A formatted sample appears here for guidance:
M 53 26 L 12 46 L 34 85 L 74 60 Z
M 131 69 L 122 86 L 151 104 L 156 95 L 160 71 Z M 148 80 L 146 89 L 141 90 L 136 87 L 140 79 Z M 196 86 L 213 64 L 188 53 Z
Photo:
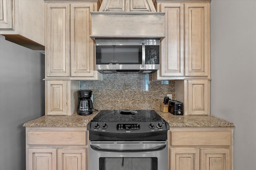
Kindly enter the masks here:
M 171 132 L 172 146 L 208 146 L 208 145 L 231 145 L 230 131 L 173 131 Z

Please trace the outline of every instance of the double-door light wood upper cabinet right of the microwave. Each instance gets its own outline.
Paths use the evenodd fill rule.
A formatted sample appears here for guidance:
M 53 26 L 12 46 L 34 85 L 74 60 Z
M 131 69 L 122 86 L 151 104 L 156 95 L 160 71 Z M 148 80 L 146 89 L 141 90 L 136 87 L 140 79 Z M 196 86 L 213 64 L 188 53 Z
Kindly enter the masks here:
M 156 2 L 165 12 L 165 38 L 153 79 L 210 78 L 210 1 Z

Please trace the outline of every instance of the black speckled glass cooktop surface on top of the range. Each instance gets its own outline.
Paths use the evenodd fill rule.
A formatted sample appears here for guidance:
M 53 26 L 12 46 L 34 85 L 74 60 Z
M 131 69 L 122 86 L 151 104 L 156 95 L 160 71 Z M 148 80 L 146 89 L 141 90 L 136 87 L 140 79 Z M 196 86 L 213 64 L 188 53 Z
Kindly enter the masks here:
M 92 122 L 162 122 L 154 110 L 101 110 Z

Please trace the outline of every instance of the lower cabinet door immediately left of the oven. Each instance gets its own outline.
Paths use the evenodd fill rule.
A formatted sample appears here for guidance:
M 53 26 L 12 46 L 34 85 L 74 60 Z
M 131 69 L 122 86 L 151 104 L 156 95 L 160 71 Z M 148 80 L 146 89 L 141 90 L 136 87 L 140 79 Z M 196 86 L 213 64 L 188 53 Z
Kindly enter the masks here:
M 58 170 L 86 170 L 86 149 L 58 149 Z

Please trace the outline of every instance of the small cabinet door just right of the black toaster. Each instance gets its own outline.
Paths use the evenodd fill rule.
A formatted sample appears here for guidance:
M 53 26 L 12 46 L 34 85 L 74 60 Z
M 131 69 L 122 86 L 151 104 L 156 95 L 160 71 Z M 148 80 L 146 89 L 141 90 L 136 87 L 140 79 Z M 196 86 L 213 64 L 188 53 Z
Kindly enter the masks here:
M 209 81 L 210 80 L 188 80 L 188 115 L 210 114 Z

